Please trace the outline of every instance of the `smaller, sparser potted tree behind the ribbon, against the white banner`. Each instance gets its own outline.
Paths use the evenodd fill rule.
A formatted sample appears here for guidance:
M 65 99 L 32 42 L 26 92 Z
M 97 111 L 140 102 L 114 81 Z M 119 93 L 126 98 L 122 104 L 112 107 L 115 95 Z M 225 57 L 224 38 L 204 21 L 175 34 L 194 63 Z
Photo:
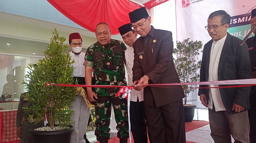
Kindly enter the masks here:
M 198 82 L 199 69 L 201 67 L 201 60 L 197 61 L 197 56 L 200 54 L 199 50 L 202 48 L 201 41 L 190 41 L 189 38 L 184 39 L 182 42 L 177 41 L 177 48 L 174 49 L 175 67 L 180 77 L 181 83 Z M 195 105 L 187 104 L 187 97 L 191 91 L 195 91 L 195 86 L 182 85 L 185 93 L 184 97 L 184 113 L 185 122 L 191 122 L 194 118 Z

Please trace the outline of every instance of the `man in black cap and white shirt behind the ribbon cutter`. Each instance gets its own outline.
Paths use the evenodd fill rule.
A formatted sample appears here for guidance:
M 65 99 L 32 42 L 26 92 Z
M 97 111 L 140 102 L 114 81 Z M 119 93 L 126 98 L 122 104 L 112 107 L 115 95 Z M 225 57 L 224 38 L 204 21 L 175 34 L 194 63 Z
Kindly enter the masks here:
M 118 28 L 127 47 L 125 51 L 126 69 L 128 74 L 128 86 L 133 85 L 133 43 L 137 40 L 137 33 L 132 29 L 132 24 L 124 24 Z M 143 90 L 132 89 L 130 98 L 130 123 L 134 143 L 148 143 L 147 125 L 145 122 L 145 111 L 143 104 Z

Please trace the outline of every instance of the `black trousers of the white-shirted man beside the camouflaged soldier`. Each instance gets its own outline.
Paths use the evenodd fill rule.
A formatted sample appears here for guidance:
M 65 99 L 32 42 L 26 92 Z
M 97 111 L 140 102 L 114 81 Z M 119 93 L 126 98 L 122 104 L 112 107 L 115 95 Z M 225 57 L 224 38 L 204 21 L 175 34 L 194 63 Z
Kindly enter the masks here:
M 130 101 L 130 123 L 134 143 L 148 143 L 143 101 Z

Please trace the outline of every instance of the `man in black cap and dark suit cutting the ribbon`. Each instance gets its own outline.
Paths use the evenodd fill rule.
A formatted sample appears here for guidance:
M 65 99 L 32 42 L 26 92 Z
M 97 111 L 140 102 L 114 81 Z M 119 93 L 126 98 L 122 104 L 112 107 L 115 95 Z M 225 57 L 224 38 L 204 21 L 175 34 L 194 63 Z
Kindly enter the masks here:
M 181 86 L 150 87 L 143 84 L 180 83 L 173 62 L 172 33 L 150 26 L 145 7 L 129 13 L 132 27 L 141 37 L 133 43 L 133 84 L 144 89 L 150 143 L 186 143 Z M 179 88 L 177 88 L 179 87 Z

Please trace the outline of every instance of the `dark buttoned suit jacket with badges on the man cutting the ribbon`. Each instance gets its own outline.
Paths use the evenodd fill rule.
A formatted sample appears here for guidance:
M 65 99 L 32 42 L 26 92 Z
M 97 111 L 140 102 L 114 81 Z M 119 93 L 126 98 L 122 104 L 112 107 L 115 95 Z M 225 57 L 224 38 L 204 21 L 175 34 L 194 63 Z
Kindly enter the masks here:
M 149 84 L 180 83 L 173 62 L 173 38 L 170 31 L 151 29 L 147 36 L 133 43 L 133 81 L 147 75 Z M 181 86 L 175 88 L 144 88 L 144 105 L 156 107 L 173 103 L 184 97 Z M 179 89 L 177 89 L 179 87 Z

